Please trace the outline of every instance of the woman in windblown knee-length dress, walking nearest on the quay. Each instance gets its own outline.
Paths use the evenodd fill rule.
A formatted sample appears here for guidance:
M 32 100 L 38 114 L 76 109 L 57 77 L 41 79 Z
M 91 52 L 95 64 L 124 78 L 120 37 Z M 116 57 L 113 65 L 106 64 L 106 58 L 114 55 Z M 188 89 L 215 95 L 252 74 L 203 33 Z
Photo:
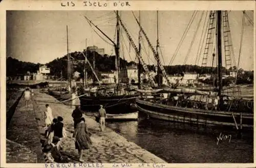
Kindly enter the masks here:
M 90 132 L 88 131 L 86 120 L 84 118 L 80 119 L 74 132 L 75 148 L 78 150 L 79 161 L 83 162 L 82 154 L 83 150 L 89 149 L 92 145 L 90 138 Z

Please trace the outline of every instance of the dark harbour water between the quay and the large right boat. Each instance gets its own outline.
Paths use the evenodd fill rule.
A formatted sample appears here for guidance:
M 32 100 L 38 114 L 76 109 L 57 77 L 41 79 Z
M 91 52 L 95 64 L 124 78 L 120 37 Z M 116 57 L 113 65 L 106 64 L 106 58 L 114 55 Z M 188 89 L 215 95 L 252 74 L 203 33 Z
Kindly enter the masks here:
M 253 133 L 237 132 L 216 127 L 145 119 L 107 122 L 108 127 L 169 163 L 245 163 L 253 162 Z M 228 139 L 218 139 L 231 135 Z M 230 137 L 230 136 L 229 136 Z

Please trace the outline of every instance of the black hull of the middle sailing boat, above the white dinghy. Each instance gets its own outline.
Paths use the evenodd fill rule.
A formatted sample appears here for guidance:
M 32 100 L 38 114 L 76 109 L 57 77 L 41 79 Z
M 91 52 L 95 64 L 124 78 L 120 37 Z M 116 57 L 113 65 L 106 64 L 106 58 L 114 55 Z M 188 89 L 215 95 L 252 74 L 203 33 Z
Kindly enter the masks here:
M 133 107 L 138 94 L 118 96 L 81 96 L 81 109 L 86 111 L 98 111 L 99 105 L 103 105 L 107 114 L 127 114 L 137 111 Z

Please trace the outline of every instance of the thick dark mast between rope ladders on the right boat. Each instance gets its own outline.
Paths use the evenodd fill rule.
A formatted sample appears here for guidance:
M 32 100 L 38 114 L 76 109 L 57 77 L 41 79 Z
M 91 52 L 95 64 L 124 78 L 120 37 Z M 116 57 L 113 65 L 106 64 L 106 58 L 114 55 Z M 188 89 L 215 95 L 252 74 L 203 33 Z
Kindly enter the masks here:
M 221 11 L 217 11 L 217 53 L 218 53 L 218 78 L 219 78 L 218 96 L 220 96 L 220 98 L 221 98 L 221 90 L 222 90 L 222 72 L 221 72 L 222 53 L 221 53 L 221 49 L 222 49 L 222 47 L 221 47 Z

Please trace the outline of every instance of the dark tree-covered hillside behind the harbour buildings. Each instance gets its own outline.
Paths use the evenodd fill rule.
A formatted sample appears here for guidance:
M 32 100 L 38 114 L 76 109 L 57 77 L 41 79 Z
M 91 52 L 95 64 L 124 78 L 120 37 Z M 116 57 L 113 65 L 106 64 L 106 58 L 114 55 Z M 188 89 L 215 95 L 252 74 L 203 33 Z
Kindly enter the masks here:
M 87 53 L 86 53 L 87 52 Z M 88 77 L 94 77 L 93 72 L 88 64 L 84 66 L 84 55 L 87 55 L 87 59 L 93 66 L 93 60 L 95 57 L 95 71 L 96 73 L 99 72 L 110 72 L 115 70 L 115 55 L 100 55 L 95 51 L 83 51 L 83 52 L 71 52 L 70 53 L 70 60 L 71 60 L 71 74 L 73 72 L 78 71 L 80 73 L 80 77 L 83 78 L 83 70 L 84 68 L 87 69 Z M 74 61 L 75 60 L 75 61 Z M 67 79 L 67 62 L 68 57 L 65 55 L 62 58 L 54 59 L 53 61 L 46 64 L 48 68 L 51 69 L 50 75 L 57 76 L 60 78 L 62 76 L 63 79 Z M 11 57 L 7 58 L 7 76 L 13 76 L 16 74 L 25 74 L 28 71 L 33 73 L 37 72 L 39 66 L 41 64 L 37 63 L 30 63 L 30 62 L 22 62 L 18 61 L 17 59 L 13 59 Z M 120 58 L 120 69 L 125 68 L 126 66 L 130 65 L 137 65 L 135 62 L 127 62 Z M 155 71 L 155 65 L 148 65 L 148 69 L 150 71 Z M 200 67 L 197 65 L 174 65 L 174 66 L 165 66 L 165 70 L 169 75 L 183 75 L 184 73 L 196 73 L 196 74 L 216 74 L 217 68 L 216 67 Z M 223 74 L 229 74 L 230 71 L 236 70 L 236 67 L 231 67 L 226 69 L 222 67 Z M 143 72 L 143 70 L 142 70 Z M 98 75 L 100 76 L 100 75 Z M 229 78 L 233 80 L 233 78 Z M 228 79 L 228 80 L 229 80 Z M 243 69 L 238 70 L 238 83 L 253 83 L 253 71 L 244 71 Z M 212 83 L 212 81 L 205 81 L 206 83 Z M 231 81 L 230 81 L 231 82 Z M 227 81 L 227 83 L 230 83 Z

